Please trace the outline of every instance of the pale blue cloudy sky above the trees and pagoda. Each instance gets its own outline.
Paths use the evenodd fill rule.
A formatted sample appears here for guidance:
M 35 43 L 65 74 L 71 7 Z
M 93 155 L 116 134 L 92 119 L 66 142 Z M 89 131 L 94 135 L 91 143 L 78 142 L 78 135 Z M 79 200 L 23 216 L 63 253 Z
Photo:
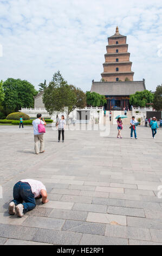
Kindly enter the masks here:
M 161 0 L 0 0 L 0 80 L 38 84 L 60 70 L 90 90 L 100 81 L 107 38 L 127 35 L 134 81 L 154 92 L 162 83 Z

